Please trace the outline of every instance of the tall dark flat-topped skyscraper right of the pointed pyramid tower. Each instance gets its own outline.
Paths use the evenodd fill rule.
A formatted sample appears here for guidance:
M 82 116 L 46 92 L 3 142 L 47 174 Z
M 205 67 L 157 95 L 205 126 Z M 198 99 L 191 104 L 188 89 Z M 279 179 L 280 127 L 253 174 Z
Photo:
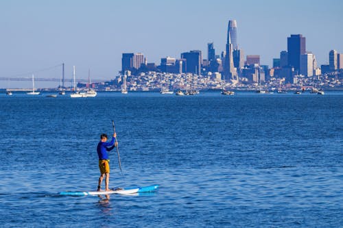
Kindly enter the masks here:
M 294 67 L 294 71 L 300 70 L 300 55 L 306 53 L 306 38 L 301 35 L 291 35 L 287 38 L 288 65 Z

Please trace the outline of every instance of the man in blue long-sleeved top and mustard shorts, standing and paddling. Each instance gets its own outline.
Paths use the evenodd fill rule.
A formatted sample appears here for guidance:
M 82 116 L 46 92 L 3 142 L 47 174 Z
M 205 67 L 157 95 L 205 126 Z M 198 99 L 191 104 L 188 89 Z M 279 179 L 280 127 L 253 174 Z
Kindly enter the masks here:
M 100 177 L 99 183 L 97 185 L 97 191 L 100 190 L 102 186 L 102 180 L 105 179 L 105 191 L 109 191 L 108 184 L 110 183 L 110 160 L 108 159 L 107 151 L 113 150 L 115 147 L 118 147 L 118 142 L 115 142 L 115 138 L 117 134 L 113 134 L 113 138 L 110 142 L 107 142 L 107 135 L 102 134 L 100 136 L 100 142 L 97 144 L 97 155 L 99 156 L 99 169 L 100 169 Z

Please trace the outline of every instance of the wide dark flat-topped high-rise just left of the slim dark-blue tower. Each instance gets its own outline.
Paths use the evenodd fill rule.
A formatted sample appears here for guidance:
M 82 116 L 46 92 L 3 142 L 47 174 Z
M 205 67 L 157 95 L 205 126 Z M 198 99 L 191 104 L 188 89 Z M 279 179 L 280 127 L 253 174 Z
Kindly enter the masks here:
M 181 59 L 185 59 L 182 64 L 182 72 L 200 75 L 202 54 L 201 51 L 189 51 L 181 53 Z

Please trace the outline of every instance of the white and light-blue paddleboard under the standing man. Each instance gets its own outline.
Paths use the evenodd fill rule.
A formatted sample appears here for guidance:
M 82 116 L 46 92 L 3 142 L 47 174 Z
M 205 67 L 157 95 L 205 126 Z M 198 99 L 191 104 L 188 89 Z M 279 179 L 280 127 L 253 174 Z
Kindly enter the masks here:
M 110 191 L 94 191 L 94 192 L 59 192 L 58 194 L 63 196 L 76 196 L 76 197 L 82 197 L 82 196 L 96 196 L 99 194 L 134 194 L 134 193 L 141 193 L 141 192 L 152 192 L 158 188 L 158 185 L 154 186 L 145 186 L 145 187 L 137 187 L 137 188 L 120 188 L 120 189 L 113 189 Z

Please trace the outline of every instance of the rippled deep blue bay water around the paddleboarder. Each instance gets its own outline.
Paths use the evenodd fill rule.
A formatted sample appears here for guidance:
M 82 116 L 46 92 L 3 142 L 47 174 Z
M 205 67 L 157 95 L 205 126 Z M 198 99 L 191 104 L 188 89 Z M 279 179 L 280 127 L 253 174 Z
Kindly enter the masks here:
M 343 227 L 343 92 L 0 94 L 0 227 Z M 123 177 L 95 190 L 115 121 Z M 104 183 L 103 183 L 104 185 Z

